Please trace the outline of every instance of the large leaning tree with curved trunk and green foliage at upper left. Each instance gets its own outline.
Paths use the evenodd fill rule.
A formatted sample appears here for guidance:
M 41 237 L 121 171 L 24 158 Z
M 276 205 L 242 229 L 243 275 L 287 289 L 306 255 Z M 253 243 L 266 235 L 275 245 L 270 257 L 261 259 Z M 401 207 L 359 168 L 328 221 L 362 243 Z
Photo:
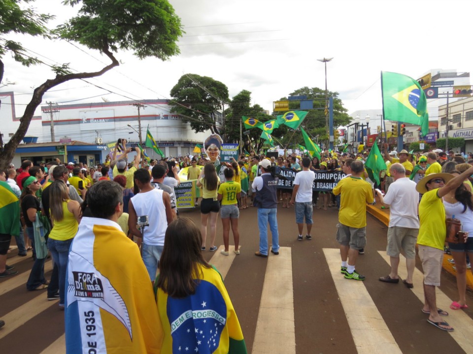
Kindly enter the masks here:
M 1 59 L 8 52 L 27 66 L 40 62 L 39 59 L 30 58 L 20 43 L 9 40 L 10 33 L 42 35 L 76 42 L 106 55 L 110 64 L 97 71 L 81 73 L 72 73 L 68 64 L 53 66 L 56 76 L 34 89 L 32 99 L 20 118 L 18 130 L 1 150 L 0 168 L 6 168 L 12 160 L 47 90 L 69 80 L 101 76 L 119 65 L 115 58 L 119 50 L 132 51 L 139 59 L 169 59 L 179 54 L 176 41 L 182 35 L 180 19 L 167 0 L 64 0 L 65 5 L 81 6 L 78 15 L 52 31 L 45 27 L 52 16 L 38 14 L 31 8 L 22 9 L 20 4 L 25 5 L 26 2 L 30 0 L 0 2 L 0 78 L 3 77 L 4 69 Z

